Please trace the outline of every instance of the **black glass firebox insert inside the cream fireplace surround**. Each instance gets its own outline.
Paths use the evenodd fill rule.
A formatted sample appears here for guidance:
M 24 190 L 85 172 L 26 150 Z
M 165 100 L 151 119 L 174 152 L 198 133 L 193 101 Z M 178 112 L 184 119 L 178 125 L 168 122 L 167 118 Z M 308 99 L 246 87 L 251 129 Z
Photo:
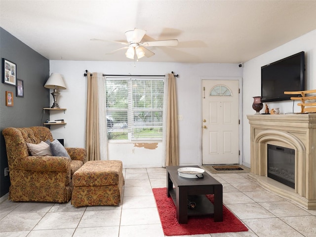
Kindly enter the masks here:
M 267 144 L 268 177 L 295 188 L 295 150 Z

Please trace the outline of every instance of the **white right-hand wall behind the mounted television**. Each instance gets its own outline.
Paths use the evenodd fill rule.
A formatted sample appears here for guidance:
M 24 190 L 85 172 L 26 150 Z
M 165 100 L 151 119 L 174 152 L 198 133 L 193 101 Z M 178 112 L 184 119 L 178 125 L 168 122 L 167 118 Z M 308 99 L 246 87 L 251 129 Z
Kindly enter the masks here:
M 255 111 L 252 109 L 252 97 L 261 95 L 261 67 L 301 51 L 305 51 L 305 89 L 316 89 L 316 30 L 244 63 L 242 86 L 242 160 L 247 166 L 250 165 L 250 125 L 246 116 L 255 114 Z M 293 111 L 293 101 L 267 102 L 267 104 L 270 109 L 279 107 L 280 114 L 301 111 L 300 107 L 297 106 L 297 102 L 294 103 Z M 261 113 L 264 113 L 264 109 L 265 107 Z

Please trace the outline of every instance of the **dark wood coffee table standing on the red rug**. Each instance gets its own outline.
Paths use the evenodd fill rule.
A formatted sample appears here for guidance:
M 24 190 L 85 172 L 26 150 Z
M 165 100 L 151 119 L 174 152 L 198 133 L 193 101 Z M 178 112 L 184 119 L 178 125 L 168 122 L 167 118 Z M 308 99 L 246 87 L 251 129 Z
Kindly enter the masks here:
M 215 222 L 223 221 L 223 186 L 220 182 L 203 173 L 203 178 L 183 178 L 178 175 L 178 168 L 192 166 L 167 166 L 167 196 L 172 197 L 177 208 L 177 220 L 180 224 L 188 223 L 188 216 L 210 215 Z M 173 187 L 174 186 L 174 187 Z M 214 194 L 214 205 L 205 196 Z M 196 208 L 190 209 L 189 202 L 195 202 Z

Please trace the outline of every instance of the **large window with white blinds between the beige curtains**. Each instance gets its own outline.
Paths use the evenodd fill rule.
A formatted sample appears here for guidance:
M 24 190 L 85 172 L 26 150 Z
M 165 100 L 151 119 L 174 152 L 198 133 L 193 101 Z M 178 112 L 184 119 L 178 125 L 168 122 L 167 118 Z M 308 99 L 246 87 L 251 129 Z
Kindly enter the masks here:
M 109 141 L 162 139 L 163 78 L 107 78 Z

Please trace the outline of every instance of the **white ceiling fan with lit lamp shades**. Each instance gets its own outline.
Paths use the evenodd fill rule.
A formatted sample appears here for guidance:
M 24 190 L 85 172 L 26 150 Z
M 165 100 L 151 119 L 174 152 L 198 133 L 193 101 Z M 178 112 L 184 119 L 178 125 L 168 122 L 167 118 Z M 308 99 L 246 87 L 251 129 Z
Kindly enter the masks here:
M 156 40 L 156 41 L 141 42 L 143 37 L 145 36 L 145 34 L 146 34 L 145 30 L 135 28 L 132 31 L 125 32 L 127 42 L 114 41 L 114 40 L 99 40 L 99 39 L 91 39 L 91 40 L 105 41 L 105 42 L 117 42 L 117 43 L 126 45 L 122 48 L 118 48 L 118 49 L 116 49 L 112 52 L 109 52 L 107 54 L 113 54 L 119 50 L 127 49 L 125 52 L 125 55 L 127 58 L 130 58 L 130 59 L 135 59 L 135 56 L 137 57 L 137 59 L 140 59 L 144 56 L 151 57 L 151 56 L 155 55 L 154 52 L 152 52 L 151 50 L 149 50 L 146 47 L 177 46 L 178 45 L 178 40 Z

